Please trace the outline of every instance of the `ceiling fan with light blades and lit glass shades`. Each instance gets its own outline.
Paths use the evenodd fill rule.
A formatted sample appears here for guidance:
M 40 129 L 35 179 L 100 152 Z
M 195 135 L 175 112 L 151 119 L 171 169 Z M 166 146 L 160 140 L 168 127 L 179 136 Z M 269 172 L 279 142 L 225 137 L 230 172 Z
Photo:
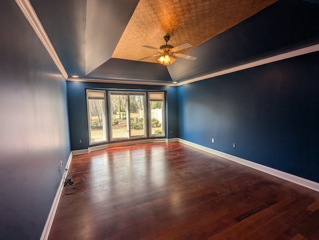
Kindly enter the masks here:
M 160 46 L 160 48 L 152 47 L 152 46 L 143 46 L 143 47 L 147 47 L 147 48 L 151 48 L 151 49 L 156 49 L 160 53 L 155 54 L 155 55 L 151 55 L 151 56 L 148 56 L 148 57 L 144 57 L 144 58 L 141 58 L 141 59 L 138 59 L 138 61 L 141 61 L 141 60 L 144 60 L 144 59 L 147 59 L 147 58 L 150 58 L 150 57 L 160 56 L 158 58 L 159 63 L 162 64 L 162 65 L 169 65 L 169 64 L 172 64 L 173 62 L 175 62 L 175 58 L 176 57 L 181 57 L 181 58 L 185 58 L 185 59 L 193 60 L 193 61 L 196 59 L 196 57 L 192 57 L 192 56 L 189 56 L 189 55 L 177 53 L 177 51 L 183 50 L 185 48 L 192 47 L 191 44 L 184 43 L 184 44 L 179 45 L 177 47 L 173 47 L 172 45 L 168 45 L 167 44 L 169 38 L 170 38 L 169 35 L 164 36 L 164 41 L 166 42 L 166 44 Z

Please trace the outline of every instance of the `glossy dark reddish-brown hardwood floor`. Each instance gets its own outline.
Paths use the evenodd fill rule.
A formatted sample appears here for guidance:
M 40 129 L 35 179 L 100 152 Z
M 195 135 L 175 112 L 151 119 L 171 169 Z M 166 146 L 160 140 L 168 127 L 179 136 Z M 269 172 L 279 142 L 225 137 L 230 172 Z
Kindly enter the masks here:
M 50 240 L 319 239 L 319 193 L 178 142 L 73 156 Z M 65 189 L 64 191 L 69 191 Z

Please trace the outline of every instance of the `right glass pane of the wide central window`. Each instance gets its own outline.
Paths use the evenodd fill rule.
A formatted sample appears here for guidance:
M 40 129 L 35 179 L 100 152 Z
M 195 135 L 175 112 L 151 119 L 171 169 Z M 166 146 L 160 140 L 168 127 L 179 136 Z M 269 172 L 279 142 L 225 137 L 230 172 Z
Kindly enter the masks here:
M 131 136 L 145 136 L 145 95 L 130 95 Z

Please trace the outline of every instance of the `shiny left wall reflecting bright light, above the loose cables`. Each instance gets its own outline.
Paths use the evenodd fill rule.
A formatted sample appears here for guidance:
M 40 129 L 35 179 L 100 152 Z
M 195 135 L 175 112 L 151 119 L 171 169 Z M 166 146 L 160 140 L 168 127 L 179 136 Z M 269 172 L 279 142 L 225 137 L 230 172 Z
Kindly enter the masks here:
M 70 154 L 66 81 L 15 1 L 0 32 L 0 239 L 39 239 Z

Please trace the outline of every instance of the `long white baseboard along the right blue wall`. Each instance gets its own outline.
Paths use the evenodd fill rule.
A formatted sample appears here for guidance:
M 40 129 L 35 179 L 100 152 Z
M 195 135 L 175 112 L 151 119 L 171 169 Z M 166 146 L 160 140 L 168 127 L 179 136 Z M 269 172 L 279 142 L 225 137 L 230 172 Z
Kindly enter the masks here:
M 180 138 L 178 138 L 178 141 L 181 143 L 187 144 L 189 146 L 195 147 L 197 149 L 203 150 L 205 152 L 212 153 L 214 155 L 226 158 L 226 159 L 231 160 L 233 162 L 240 163 L 240 164 L 245 165 L 247 167 L 254 168 L 256 170 L 268 173 L 270 175 L 285 179 L 287 181 L 296 183 L 298 185 L 301 185 L 301 186 L 304 186 L 306 188 L 309 188 L 309 189 L 312 189 L 312 190 L 319 192 L 319 183 L 317 183 L 317 182 L 314 182 L 314 181 L 311 181 L 311 180 L 308 180 L 305 178 L 301 178 L 301 177 L 295 176 L 293 174 L 286 173 L 286 172 L 283 172 L 283 171 L 280 171 L 280 170 L 277 170 L 277 169 L 274 169 L 271 167 L 267 167 L 267 166 L 261 165 L 259 163 L 255 163 L 255 162 L 252 162 L 252 161 L 240 158 L 240 157 L 236 157 L 236 156 L 224 153 L 224 152 L 220 152 L 220 151 L 217 151 L 217 150 L 214 150 L 214 149 L 211 149 L 211 148 L 208 148 L 208 147 L 196 144 L 196 143 L 192 143 L 192 142 L 180 139 Z

